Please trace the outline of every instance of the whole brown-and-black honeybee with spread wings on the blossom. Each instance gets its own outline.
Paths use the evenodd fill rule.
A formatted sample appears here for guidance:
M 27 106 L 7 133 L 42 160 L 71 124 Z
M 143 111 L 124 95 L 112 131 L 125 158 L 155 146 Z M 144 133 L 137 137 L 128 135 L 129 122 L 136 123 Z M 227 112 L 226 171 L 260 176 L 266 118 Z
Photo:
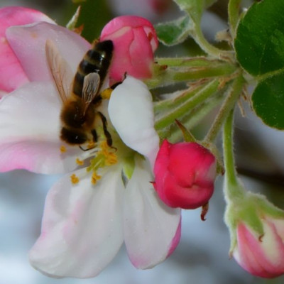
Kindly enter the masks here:
M 87 141 L 97 142 L 95 124 L 102 121 L 104 136 L 111 146 L 112 140 L 107 130 L 107 119 L 97 110 L 102 104 L 101 89 L 111 64 L 114 45 L 104 40 L 93 45 L 77 67 L 73 82 L 70 67 L 62 58 L 52 40 L 47 40 L 45 52 L 55 85 L 62 100 L 60 138 L 71 145 L 81 146 Z

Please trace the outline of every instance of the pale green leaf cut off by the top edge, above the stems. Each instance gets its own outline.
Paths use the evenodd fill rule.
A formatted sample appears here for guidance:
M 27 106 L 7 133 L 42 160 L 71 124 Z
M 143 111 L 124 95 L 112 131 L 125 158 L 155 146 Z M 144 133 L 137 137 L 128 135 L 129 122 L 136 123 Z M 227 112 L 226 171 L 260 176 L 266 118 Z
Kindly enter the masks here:
M 174 0 L 182 11 L 186 11 L 195 21 L 199 23 L 203 10 L 211 6 L 217 0 Z

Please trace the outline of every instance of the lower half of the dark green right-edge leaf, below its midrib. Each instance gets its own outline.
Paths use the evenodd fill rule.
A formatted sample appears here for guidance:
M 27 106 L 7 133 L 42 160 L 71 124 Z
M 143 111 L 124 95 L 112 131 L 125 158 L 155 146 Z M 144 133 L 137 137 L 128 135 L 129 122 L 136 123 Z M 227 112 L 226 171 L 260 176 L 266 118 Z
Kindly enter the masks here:
M 284 72 L 260 82 L 252 101 L 254 111 L 265 124 L 284 129 Z

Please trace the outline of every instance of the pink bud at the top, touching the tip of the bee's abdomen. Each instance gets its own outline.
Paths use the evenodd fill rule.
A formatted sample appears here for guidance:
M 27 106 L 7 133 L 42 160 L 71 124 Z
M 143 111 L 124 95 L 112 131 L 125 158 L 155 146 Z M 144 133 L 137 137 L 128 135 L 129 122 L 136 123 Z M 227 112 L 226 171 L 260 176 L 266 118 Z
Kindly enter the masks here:
M 123 80 L 125 73 L 137 79 L 152 76 L 153 53 L 158 47 L 158 38 L 146 18 L 114 18 L 104 26 L 100 40 L 112 40 L 114 43 L 114 58 L 109 70 L 112 80 Z

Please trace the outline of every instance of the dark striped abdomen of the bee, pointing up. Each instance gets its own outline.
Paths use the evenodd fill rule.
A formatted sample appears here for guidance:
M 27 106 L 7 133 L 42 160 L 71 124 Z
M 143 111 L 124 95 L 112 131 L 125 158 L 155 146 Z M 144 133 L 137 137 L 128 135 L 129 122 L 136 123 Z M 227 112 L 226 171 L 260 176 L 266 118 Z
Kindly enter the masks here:
M 111 64 L 112 52 L 114 45 L 111 40 L 104 40 L 96 45 L 94 48 L 87 51 L 83 60 L 77 68 L 75 79 L 73 82 L 73 93 L 82 97 L 82 89 L 84 77 L 89 73 L 98 73 L 100 77 L 99 88 L 102 87 L 104 79 L 107 76 L 109 65 Z

